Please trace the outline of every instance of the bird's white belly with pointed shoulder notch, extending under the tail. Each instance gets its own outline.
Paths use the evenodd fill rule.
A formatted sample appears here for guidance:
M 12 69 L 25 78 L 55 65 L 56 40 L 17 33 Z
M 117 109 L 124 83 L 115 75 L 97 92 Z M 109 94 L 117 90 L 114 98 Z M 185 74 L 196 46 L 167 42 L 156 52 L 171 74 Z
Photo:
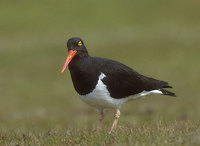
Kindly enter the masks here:
M 102 79 L 106 77 L 104 73 L 101 73 L 99 76 L 99 80 L 97 82 L 97 85 L 95 89 L 86 95 L 79 95 L 80 98 L 86 102 L 87 104 L 94 106 L 98 109 L 105 109 L 105 108 L 120 108 L 125 102 L 127 102 L 130 99 L 137 99 L 141 96 L 145 96 L 151 93 L 157 93 L 161 94 L 162 92 L 159 90 L 153 90 L 153 91 L 143 91 L 139 94 L 136 94 L 134 96 L 130 96 L 127 98 L 122 99 L 115 99 L 110 96 L 110 93 L 108 92 L 108 89 L 106 85 L 102 82 Z

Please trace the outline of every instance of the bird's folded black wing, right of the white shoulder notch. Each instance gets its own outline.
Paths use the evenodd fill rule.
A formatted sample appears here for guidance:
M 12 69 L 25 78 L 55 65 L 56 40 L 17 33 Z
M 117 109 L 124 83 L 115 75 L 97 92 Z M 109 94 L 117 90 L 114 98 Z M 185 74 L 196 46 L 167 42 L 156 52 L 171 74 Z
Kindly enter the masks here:
M 103 83 L 106 84 L 113 98 L 125 98 L 130 95 L 141 93 L 144 90 L 151 91 L 162 88 L 172 88 L 165 81 L 143 76 L 117 61 L 103 58 L 96 59 L 98 60 L 98 64 L 101 62 L 100 60 L 102 60 L 100 63 L 100 70 L 106 75 L 103 79 Z M 171 93 L 164 89 L 162 90 L 162 92 L 165 91 L 165 93 L 168 93 L 166 95 L 170 95 L 169 93 Z M 171 96 L 175 96 L 175 94 Z

